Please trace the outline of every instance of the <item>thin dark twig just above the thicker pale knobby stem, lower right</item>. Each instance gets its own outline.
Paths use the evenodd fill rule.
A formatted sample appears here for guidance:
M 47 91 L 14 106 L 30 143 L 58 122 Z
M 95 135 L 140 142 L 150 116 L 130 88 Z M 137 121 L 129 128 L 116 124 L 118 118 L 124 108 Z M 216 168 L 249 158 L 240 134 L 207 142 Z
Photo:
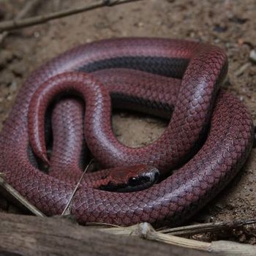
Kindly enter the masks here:
M 159 230 L 159 233 L 171 233 L 175 236 L 194 235 L 223 229 L 230 229 L 256 223 L 256 219 L 235 219 L 230 222 L 213 222 Z

